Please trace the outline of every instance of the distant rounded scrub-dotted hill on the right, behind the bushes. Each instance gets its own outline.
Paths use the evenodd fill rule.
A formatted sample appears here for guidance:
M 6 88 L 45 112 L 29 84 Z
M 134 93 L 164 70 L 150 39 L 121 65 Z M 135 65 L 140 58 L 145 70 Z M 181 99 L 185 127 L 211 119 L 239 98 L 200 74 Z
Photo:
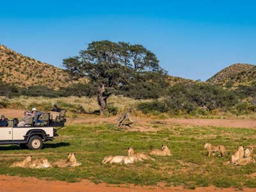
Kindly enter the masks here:
M 239 84 L 245 86 L 256 85 L 256 66 L 244 63 L 236 63 L 224 68 L 206 82 L 220 84 L 227 88 L 236 88 Z

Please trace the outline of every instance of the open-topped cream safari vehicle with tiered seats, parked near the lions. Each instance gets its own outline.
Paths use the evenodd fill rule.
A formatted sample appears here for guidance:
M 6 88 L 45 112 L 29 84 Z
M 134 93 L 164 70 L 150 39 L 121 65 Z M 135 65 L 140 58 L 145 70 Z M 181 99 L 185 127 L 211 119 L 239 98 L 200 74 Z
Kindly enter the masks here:
M 8 120 L 8 127 L 0 127 L 0 145 L 17 144 L 20 148 L 41 149 L 45 141 L 52 141 L 55 136 L 58 136 L 58 129 L 54 127 L 64 127 L 65 113 L 65 109 L 58 114 L 56 112 L 44 113 L 38 118 L 40 123 L 36 124 L 31 118 L 24 127 L 17 126 L 19 123 L 17 118 Z

